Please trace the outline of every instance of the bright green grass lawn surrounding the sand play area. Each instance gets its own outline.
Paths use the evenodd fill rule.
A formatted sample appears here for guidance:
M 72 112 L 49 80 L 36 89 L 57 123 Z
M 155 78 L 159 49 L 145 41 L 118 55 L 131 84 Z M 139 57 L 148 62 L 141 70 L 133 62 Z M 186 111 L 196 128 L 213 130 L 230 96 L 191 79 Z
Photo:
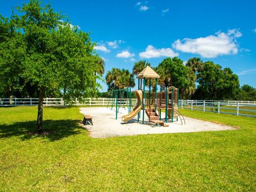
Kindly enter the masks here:
M 36 107 L 0 108 L 0 191 L 255 191 L 256 119 L 180 111 L 239 129 L 93 139 L 45 107 L 36 136 Z

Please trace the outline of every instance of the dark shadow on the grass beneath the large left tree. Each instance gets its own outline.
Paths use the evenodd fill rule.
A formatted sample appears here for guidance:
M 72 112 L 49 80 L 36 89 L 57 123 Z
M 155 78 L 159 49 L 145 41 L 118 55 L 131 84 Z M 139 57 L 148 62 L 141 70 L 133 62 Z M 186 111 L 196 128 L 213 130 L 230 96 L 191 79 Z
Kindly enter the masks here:
M 71 119 L 45 120 L 43 121 L 44 134 L 34 134 L 37 131 L 36 121 L 0 124 L 0 139 L 19 137 L 21 140 L 27 140 L 41 137 L 50 141 L 60 140 L 81 133 L 83 127 L 79 126 L 78 122 Z

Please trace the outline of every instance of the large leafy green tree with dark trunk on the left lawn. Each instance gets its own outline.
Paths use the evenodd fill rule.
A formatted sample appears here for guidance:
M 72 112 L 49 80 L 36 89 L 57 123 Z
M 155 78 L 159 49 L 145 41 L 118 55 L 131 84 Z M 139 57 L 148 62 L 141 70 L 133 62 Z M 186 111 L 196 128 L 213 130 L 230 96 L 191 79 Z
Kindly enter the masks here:
M 37 130 L 43 129 L 43 98 L 45 93 L 65 90 L 66 99 L 90 97 L 97 92 L 94 44 L 88 33 L 78 31 L 60 13 L 54 12 L 50 4 L 41 6 L 37 0 L 18 7 L 13 14 L 15 35 L 13 52 L 21 54 L 16 77 L 24 83 L 36 86 L 39 93 Z M 9 42 L 12 42 L 9 40 Z M 7 54 L 1 65 L 7 62 Z M 12 62 L 14 63 L 14 61 Z M 7 74 L 7 73 L 6 73 Z M 6 75 L 5 75 L 6 76 Z

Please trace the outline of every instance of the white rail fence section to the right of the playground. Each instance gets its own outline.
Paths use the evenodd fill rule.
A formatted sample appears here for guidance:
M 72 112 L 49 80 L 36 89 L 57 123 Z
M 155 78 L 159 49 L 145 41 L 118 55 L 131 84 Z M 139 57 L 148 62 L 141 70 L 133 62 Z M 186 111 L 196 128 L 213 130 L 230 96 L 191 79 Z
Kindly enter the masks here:
M 179 100 L 179 107 L 218 114 L 256 117 L 255 101 Z

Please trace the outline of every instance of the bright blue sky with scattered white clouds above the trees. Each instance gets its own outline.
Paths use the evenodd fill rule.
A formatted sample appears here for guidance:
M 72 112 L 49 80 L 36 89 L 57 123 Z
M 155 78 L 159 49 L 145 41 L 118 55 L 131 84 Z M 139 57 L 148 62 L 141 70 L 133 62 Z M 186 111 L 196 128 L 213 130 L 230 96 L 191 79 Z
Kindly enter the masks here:
M 1 14 L 27 1 L 1 1 Z M 50 1 L 43 1 L 49 3 Z M 229 67 L 240 85 L 256 87 L 256 1 L 51 1 L 72 25 L 90 32 L 95 47 L 112 67 L 132 71 L 147 60 L 166 57 L 211 60 Z M 102 83 L 102 91 L 107 90 Z

